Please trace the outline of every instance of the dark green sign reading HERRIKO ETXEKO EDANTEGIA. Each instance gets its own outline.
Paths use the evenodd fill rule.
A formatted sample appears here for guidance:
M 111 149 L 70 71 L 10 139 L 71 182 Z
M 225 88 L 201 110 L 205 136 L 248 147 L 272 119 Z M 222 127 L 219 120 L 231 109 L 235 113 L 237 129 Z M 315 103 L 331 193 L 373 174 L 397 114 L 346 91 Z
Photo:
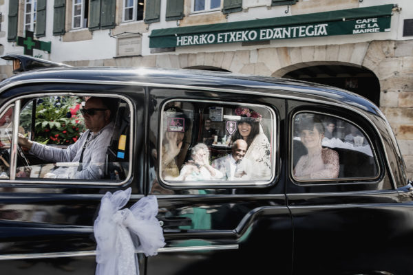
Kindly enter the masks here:
M 149 47 L 180 47 L 390 31 L 393 5 L 153 30 Z

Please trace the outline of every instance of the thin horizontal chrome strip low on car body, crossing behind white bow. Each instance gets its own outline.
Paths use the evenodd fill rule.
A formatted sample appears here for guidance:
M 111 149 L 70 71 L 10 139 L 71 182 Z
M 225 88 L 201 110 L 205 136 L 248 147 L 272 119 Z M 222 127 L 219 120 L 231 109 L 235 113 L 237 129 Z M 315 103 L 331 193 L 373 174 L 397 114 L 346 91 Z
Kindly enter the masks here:
M 171 252 L 193 252 L 200 250 L 237 250 L 240 245 L 200 245 L 184 246 L 175 248 L 158 248 L 158 253 Z M 135 253 L 144 253 L 142 250 L 136 250 Z M 0 261 L 7 260 L 28 260 L 28 259 L 50 259 L 50 258 L 67 258 L 67 257 L 85 257 L 96 256 L 96 250 L 77 251 L 77 252 L 50 252 L 50 253 L 30 253 L 30 254 L 3 254 L 0 255 Z

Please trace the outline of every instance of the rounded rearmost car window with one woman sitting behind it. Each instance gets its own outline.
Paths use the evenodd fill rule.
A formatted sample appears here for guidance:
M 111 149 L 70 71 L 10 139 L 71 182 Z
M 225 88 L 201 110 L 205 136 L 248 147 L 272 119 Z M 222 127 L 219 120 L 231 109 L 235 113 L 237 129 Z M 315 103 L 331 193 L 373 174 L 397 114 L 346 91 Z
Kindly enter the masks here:
M 297 181 L 375 178 L 377 159 L 355 124 L 319 113 L 293 119 L 293 177 Z

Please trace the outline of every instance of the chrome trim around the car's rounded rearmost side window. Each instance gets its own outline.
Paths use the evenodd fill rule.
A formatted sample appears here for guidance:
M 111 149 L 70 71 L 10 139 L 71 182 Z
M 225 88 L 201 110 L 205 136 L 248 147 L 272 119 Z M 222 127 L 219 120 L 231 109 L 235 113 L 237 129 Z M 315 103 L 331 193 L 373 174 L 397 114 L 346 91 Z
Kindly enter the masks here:
M 299 115 L 300 113 L 315 113 L 315 114 L 317 114 L 317 115 L 324 115 L 324 116 L 326 116 L 326 117 L 332 117 L 332 118 L 338 118 L 339 120 L 343 120 L 343 121 L 346 121 L 348 124 L 350 124 L 350 125 L 354 125 L 354 126 L 357 126 L 357 129 L 359 129 L 359 131 L 361 131 L 361 133 L 363 133 L 363 135 L 365 136 L 365 137 L 367 137 L 367 139 L 368 139 L 368 144 L 369 144 L 369 146 L 370 146 L 370 148 L 372 149 L 372 153 L 373 153 L 373 158 L 374 158 L 374 162 L 376 163 L 376 165 L 377 165 L 377 168 L 378 168 L 378 170 L 377 170 L 377 175 L 375 175 L 374 177 L 339 177 L 339 178 L 335 178 L 335 179 L 296 179 L 295 177 L 294 177 L 294 175 L 293 175 L 293 143 L 292 143 L 292 138 L 293 138 L 293 130 L 294 130 L 294 119 L 295 119 L 295 116 L 296 115 Z M 342 118 L 341 116 L 339 116 L 339 115 L 332 115 L 332 114 L 330 114 L 330 113 L 325 113 L 325 112 L 319 112 L 319 111 L 308 111 L 308 110 L 301 110 L 301 111 L 298 111 L 298 112 L 296 112 L 296 113 L 294 113 L 293 114 L 293 118 L 291 119 L 291 121 L 290 121 L 290 126 L 291 126 L 291 131 L 290 131 L 290 142 L 291 142 L 291 144 L 290 144 L 290 148 L 288 148 L 288 151 L 289 151 L 289 155 L 290 155 L 290 171 L 289 171 L 289 175 L 290 175 L 290 178 L 291 179 L 293 179 L 293 181 L 295 181 L 295 182 L 293 182 L 294 184 L 297 184 L 296 182 L 298 182 L 299 184 L 297 184 L 297 185 L 299 185 L 299 186 L 315 186 L 315 185 L 321 185 L 320 183 L 326 183 L 326 184 L 328 184 L 328 185 L 333 185 L 333 184 L 360 184 L 360 183 L 358 183 L 358 182 L 345 182 L 345 181 L 355 181 L 355 180 L 363 180 L 363 181 L 366 181 L 366 180 L 374 180 L 374 179 L 379 179 L 379 177 L 380 177 L 380 173 L 381 173 L 381 168 L 380 168 L 380 165 L 379 165 L 379 159 L 378 159 L 378 157 L 377 157 L 377 153 L 376 153 L 376 150 L 375 150 L 375 148 L 374 148 L 374 146 L 372 147 L 371 146 L 371 144 L 372 144 L 372 142 L 371 142 L 371 140 L 370 140 L 370 137 L 368 136 L 368 135 L 366 135 L 366 131 L 364 131 L 364 129 L 362 129 L 358 124 L 356 124 L 356 123 L 354 123 L 353 121 L 351 121 L 351 120 L 348 120 L 347 118 Z M 333 148 L 334 149 L 334 148 Z M 310 182 L 309 182 L 310 181 Z M 340 183 L 335 183 L 335 182 L 331 182 L 331 181 L 341 181 Z M 312 184 L 312 182 L 317 182 L 316 184 Z M 368 184 L 375 184 L 374 182 L 369 182 Z

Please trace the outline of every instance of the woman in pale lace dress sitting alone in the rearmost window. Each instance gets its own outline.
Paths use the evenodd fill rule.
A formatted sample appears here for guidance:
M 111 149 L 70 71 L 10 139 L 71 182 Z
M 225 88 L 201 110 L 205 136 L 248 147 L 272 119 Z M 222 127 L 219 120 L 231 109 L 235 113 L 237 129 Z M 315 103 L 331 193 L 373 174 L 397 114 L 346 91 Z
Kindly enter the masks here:
M 308 118 L 299 125 L 301 142 L 307 148 L 294 168 L 297 179 L 335 179 L 339 177 L 339 154 L 323 148 L 324 126 L 317 118 Z

